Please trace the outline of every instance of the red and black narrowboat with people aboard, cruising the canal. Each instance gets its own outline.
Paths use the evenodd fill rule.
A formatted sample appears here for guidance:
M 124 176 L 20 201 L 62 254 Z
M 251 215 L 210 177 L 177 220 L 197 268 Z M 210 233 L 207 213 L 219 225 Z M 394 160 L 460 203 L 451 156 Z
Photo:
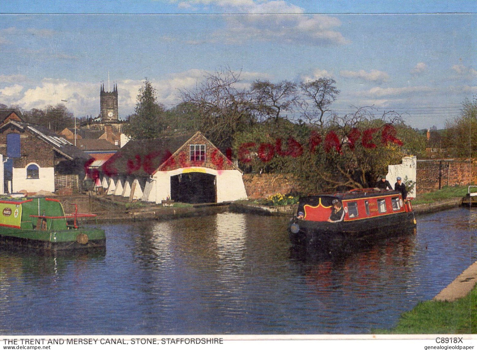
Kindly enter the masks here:
M 357 189 L 301 197 L 289 233 L 294 244 L 332 249 L 342 243 L 409 231 L 415 225 L 411 201 L 403 201 L 401 192 Z

